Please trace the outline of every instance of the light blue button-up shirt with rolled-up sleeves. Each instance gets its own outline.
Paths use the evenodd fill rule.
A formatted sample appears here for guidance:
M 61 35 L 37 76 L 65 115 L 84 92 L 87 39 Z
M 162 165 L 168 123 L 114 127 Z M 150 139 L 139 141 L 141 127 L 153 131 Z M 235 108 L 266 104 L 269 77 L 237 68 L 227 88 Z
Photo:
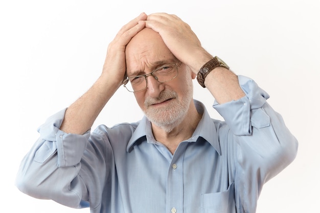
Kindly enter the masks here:
M 263 184 L 294 159 L 298 142 L 268 94 L 249 78 L 239 83 L 245 97 L 214 103 L 225 122 L 195 101 L 202 119 L 173 155 L 146 117 L 77 135 L 59 130 L 64 109 L 39 128 L 16 185 L 92 213 L 255 212 Z

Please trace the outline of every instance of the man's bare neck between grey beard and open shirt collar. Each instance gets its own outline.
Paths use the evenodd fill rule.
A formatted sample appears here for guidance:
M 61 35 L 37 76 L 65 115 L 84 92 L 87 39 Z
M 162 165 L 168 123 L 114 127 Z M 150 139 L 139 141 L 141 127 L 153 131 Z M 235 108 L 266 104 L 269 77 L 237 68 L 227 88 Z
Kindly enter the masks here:
M 181 141 L 189 139 L 196 129 L 201 115 L 192 101 L 189 110 L 182 121 L 178 124 L 171 124 L 164 127 L 156 126 L 152 123 L 152 133 L 154 138 L 165 145 L 171 154 L 174 154 Z

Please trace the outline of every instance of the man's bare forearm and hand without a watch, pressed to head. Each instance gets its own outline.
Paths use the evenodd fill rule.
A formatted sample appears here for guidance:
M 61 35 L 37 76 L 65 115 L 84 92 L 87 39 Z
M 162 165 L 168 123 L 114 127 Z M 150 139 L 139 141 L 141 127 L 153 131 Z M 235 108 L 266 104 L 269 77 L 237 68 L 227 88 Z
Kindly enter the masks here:
M 108 46 L 103 71 L 94 85 L 67 108 L 60 130 L 83 134 L 122 84 L 125 72 L 125 48 L 131 38 L 145 27 L 147 15 L 140 14 L 121 28 Z M 140 23 L 139 23 L 140 21 Z

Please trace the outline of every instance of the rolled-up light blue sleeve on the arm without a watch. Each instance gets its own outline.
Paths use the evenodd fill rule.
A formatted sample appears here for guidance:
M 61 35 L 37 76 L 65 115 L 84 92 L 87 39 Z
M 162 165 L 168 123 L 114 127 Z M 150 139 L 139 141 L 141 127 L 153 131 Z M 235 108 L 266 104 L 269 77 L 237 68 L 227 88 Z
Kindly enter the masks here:
M 38 128 L 40 137 L 21 161 L 16 186 L 36 198 L 85 207 L 87 188 L 78 174 L 90 132 L 76 135 L 59 130 L 64 112 L 49 117 Z

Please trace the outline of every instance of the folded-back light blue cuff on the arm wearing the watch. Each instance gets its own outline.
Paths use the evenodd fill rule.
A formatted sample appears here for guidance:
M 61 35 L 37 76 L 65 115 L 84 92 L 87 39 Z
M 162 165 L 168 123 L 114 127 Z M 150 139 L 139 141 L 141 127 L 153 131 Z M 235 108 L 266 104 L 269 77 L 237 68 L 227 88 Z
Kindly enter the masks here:
M 261 108 L 269 98 L 269 94 L 250 78 L 238 76 L 238 81 L 245 97 L 224 104 L 215 101 L 213 108 L 219 112 L 235 135 L 250 135 L 252 134 L 251 110 Z M 268 120 L 268 117 L 261 119 Z

